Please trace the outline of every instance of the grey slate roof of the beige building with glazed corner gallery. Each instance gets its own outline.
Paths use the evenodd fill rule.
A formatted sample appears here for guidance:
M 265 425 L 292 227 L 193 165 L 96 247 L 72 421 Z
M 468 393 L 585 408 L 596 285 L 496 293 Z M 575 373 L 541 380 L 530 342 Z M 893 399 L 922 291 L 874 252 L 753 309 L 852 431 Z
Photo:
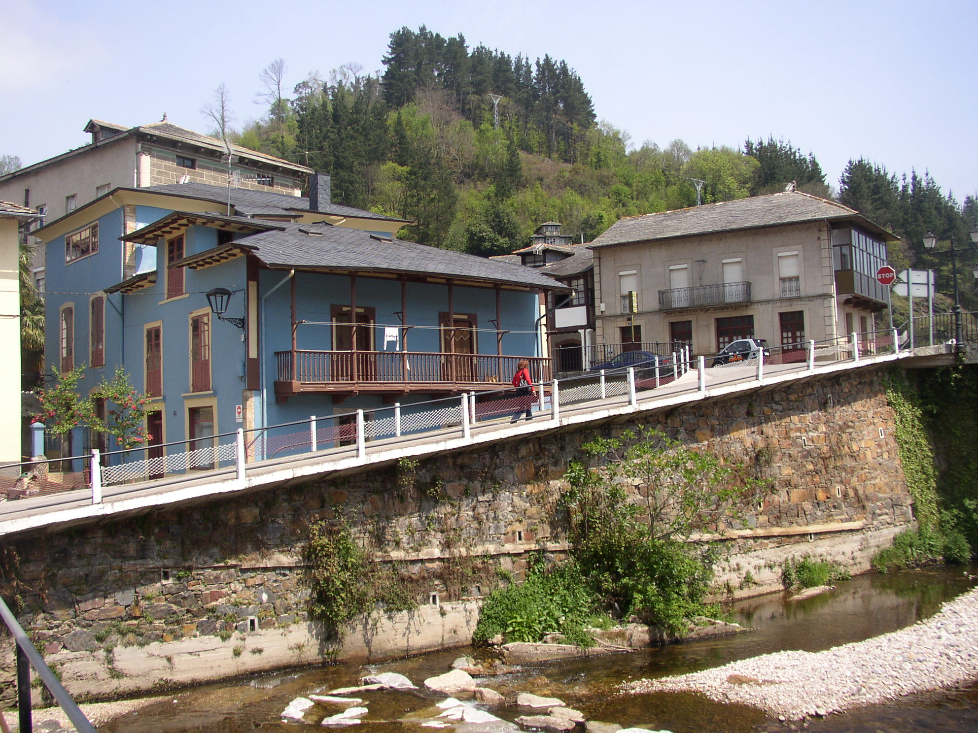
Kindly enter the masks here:
M 858 221 L 871 232 L 890 241 L 898 238 L 873 224 L 855 209 L 812 194 L 791 191 L 627 217 L 612 224 L 589 246 L 597 248 L 612 244 L 843 219 Z

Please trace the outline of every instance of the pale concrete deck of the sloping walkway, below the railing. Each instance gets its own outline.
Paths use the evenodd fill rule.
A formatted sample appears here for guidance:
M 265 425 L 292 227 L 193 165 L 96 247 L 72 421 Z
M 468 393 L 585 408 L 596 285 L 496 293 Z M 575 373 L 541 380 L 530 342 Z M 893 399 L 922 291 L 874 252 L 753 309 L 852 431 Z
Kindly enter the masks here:
M 553 431 L 559 428 L 600 423 L 602 421 L 648 411 L 670 409 L 690 403 L 721 397 L 766 391 L 792 382 L 819 379 L 840 372 L 887 363 L 945 359 L 950 347 L 935 346 L 915 351 L 863 356 L 828 364 L 813 362 L 764 365 L 758 378 L 756 361 L 742 365 L 706 368 L 700 373 L 689 370 L 662 386 L 632 394 L 580 402 L 563 402 L 558 384 L 557 409 L 553 400 L 547 410 L 538 411 L 533 420 L 511 424 L 509 415 L 478 421 L 465 431 L 458 426 L 429 430 L 417 435 L 371 441 L 366 450 L 356 447 L 329 448 L 316 453 L 289 455 L 247 463 L 244 471 L 230 467 L 214 471 L 190 472 L 167 476 L 156 481 L 123 484 L 102 489 L 101 501 L 93 502 L 93 493 L 82 489 L 50 496 L 32 496 L 0 502 L 0 537 L 25 532 L 61 530 L 78 524 L 145 513 L 151 510 L 212 501 L 221 496 L 235 496 L 276 486 L 338 476 L 367 467 L 389 464 L 400 458 L 418 458 L 471 446 Z M 919 352 L 919 353 L 918 353 Z M 950 355 L 954 358 L 954 355 Z M 569 381 L 569 380 L 568 380 Z M 467 434 L 466 434 L 467 432 Z M 244 474 L 244 475 L 242 475 Z

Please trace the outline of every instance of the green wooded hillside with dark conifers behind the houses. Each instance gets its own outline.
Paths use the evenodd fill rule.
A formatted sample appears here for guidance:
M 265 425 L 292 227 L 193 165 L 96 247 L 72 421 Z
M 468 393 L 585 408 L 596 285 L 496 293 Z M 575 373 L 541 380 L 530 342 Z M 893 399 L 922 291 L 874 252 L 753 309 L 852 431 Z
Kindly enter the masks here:
M 978 201 L 943 194 L 926 172 L 900 174 L 855 156 L 837 186 L 816 155 L 768 137 L 737 147 L 692 150 L 682 140 L 633 145 L 626 132 L 599 121 L 584 81 L 565 61 L 531 60 L 445 38 L 424 26 L 390 34 L 384 70 L 343 65 L 285 87 L 279 59 L 260 74 L 264 114 L 230 137 L 244 147 L 306 164 L 333 176 L 333 200 L 414 223 L 401 237 L 489 256 L 524 246 L 542 222 L 555 220 L 590 241 L 623 216 L 769 194 L 795 182 L 799 191 L 835 198 L 901 237 L 890 263 L 947 272 L 950 263 L 924 250 L 933 231 L 947 248 L 970 243 Z M 498 106 L 494 105 L 494 98 Z M 229 129 L 223 85 L 206 110 Z M 962 278 L 965 305 L 978 289 Z

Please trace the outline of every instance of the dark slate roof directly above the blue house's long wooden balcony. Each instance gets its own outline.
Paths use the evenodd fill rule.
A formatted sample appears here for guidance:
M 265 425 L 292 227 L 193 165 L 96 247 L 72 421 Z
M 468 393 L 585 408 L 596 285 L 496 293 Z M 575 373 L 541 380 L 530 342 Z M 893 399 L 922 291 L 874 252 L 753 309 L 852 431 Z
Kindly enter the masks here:
M 269 267 L 393 272 L 564 289 L 534 268 L 326 223 L 287 224 L 235 239 L 233 244 L 246 247 Z

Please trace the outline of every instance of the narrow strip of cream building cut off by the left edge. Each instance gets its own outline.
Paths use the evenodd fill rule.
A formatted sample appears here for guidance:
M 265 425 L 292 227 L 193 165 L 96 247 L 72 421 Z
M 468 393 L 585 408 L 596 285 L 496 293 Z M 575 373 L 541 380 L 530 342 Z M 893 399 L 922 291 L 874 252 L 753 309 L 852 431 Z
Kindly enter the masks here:
M 0 200 L 0 465 L 21 459 L 21 281 L 19 230 L 37 212 Z M 20 471 L 18 471 L 20 473 Z

